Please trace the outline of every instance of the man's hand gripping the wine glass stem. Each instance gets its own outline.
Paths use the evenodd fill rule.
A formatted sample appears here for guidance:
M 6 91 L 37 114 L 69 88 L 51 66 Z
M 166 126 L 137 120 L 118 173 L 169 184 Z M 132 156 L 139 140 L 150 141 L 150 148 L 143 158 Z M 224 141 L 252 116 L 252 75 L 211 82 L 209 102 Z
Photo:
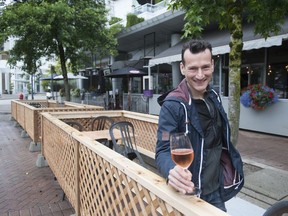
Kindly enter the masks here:
M 168 179 L 168 184 L 183 194 L 192 193 L 194 190 L 192 173 L 178 165 L 169 171 Z

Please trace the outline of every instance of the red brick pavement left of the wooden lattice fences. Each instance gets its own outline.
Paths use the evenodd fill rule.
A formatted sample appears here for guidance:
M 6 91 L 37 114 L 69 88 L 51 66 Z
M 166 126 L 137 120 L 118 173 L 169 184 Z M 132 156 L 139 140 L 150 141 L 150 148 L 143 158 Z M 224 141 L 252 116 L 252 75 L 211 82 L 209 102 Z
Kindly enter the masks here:
M 4 106 L 1 104 L 1 110 Z M 36 167 L 39 152 L 30 152 L 11 114 L 0 112 L 0 216 L 70 216 L 74 209 L 49 167 Z

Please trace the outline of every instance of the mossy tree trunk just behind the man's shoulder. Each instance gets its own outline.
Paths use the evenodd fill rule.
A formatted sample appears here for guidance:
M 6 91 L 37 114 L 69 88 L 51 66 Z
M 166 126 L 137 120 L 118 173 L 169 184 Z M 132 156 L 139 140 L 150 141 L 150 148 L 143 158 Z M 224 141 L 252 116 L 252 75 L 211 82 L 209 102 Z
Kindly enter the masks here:
M 241 10 L 241 6 L 235 4 L 234 11 Z M 231 13 L 233 14 L 233 13 Z M 238 141 L 240 118 L 240 76 L 241 53 L 243 47 L 243 30 L 241 12 L 231 16 L 230 25 L 230 54 L 229 54 L 229 103 L 228 117 L 231 127 L 231 141 L 236 146 Z

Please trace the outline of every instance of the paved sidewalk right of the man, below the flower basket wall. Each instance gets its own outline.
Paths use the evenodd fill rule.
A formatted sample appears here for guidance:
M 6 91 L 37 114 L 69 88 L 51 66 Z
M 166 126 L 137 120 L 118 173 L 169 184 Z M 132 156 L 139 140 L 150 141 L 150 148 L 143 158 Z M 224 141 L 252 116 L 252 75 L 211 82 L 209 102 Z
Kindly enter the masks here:
M 239 197 L 264 209 L 288 200 L 288 138 L 240 130 L 237 148 L 245 168 Z

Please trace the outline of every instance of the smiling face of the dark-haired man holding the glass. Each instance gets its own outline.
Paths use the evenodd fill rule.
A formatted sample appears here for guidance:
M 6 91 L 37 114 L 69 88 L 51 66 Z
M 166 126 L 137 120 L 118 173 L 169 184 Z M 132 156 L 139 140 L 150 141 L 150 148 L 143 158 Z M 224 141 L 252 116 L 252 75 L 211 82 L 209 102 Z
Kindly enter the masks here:
M 193 54 L 184 52 L 185 65 L 181 62 L 180 70 L 185 76 L 193 98 L 203 98 L 204 92 L 212 79 L 214 61 L 209 49 Z

